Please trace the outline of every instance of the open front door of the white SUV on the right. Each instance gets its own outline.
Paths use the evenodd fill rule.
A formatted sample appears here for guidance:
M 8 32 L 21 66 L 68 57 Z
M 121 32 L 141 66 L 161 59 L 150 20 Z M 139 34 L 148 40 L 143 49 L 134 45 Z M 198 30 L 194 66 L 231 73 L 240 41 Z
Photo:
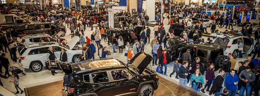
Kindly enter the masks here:
M 242 53 L 250 54 L 254 50 L 254 44 L 251 44 L 250 39 L 247 39 L 247 37 L 243 37 L 244 40 L 244 47 Z

